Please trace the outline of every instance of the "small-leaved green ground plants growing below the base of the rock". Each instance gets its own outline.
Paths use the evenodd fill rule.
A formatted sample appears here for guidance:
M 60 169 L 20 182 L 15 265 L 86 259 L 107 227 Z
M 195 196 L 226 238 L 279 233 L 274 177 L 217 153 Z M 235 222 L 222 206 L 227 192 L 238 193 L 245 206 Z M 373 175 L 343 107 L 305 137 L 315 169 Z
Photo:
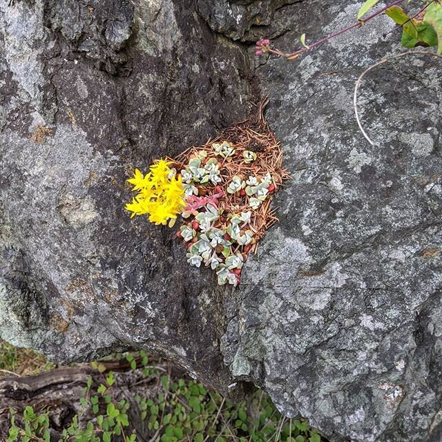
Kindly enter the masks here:
M 231 403 L 204 385 L 186 378 L 172 378 L 154 363 L 145 352 L 118 355 L 131 369 L 145 378 L 157 379 L 157 394 L 137 395 L 133 403 L 117 400 L 117 379 L 106 372 L 104 363 L 91 366 L 97 370 L 89 378 L 79 405 L 81 411 L 62 430 L 60 442 L 136 442 L 137 428 L 129 416 L 144 422 L 149 439 L 155 442 L 215 441 L 227 442 L 321 442 L 320 434 L 302 419 L 287 419 L 280 415 L 267 394 L 258 391 L 241 403 Z M 93 419 L 84 423 L 86 412 Z M 35 412 L 26 407 L 21 414 L 10 410 L 10 430 L 7 442 L 50 442 L 50 410 Z M 53 440 L 53 439 L 52 439 Z

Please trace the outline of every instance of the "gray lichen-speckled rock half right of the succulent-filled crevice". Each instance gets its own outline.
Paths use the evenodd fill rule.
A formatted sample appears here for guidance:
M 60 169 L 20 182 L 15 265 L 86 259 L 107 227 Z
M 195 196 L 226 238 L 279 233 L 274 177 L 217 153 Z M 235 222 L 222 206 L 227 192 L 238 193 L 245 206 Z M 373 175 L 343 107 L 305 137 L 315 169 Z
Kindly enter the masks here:
M 324 3 L 324 2 L 322 2 Z M 285 8 L 311 40 L 358 5 Z M 348 3 L 348 2 L 347 2 Z M 441 61 L 401 51 L 379 18 L 295 62 L 261 57 L 267 116 L 294 180 L 280 224 L 247 262 L 223 337 L 232 373 L 333 441 L 439 441 L 441 434 Z M 381 31 L 381 32 L 380 32 Z M 275 44 L 293 47 L 289 32 Z

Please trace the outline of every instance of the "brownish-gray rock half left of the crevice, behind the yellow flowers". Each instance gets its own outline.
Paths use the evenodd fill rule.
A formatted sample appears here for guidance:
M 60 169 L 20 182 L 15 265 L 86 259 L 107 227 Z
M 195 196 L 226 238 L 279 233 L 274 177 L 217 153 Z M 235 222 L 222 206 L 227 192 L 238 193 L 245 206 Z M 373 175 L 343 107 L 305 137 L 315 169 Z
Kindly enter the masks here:
M 249 112 L 247 54 L 191 3 L 0 1 L 0 336 L 61 363 L 144 347 L 228 394 L 223 291 L 124 211 L 135 167 Z

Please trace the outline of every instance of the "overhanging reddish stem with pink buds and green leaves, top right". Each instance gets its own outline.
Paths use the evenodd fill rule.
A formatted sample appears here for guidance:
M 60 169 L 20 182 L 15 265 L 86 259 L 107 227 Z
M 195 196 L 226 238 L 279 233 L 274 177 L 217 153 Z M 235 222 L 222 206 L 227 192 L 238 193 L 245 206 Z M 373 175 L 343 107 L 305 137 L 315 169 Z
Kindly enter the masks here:
M 437 54 L 442 53 L 442 3 L 441 0 L 425 1 L 425 6 L 421 8 L 414 15 L 408 15 L 398 5 L 404 3 L 405 0 L 396 0 L 389 5 L 373 12 L 372 15 L 367 16 L 367 13 L 376 6 L 380 0 L 367 0 L 361 6 L 357 21 L 351 26 L 347 26 L 337 32 L 333 32 L 318 41 L 311 44 L 306 44 L 305 34 L 300 37 L 302 48 L 294 52 L 282 52 L 278 48 L 272 48 L 269 39 L 260 39 L 256 42 L 257 56 L 263 54 L 273 54 L 279 57 L 284 57 L 288 60 L 294 60 L 303 53 L 317 48 L 326 41 L 329 41 L 339 35 L 342 35 L 349 30 L 361 28 L 367 21 L 370 21 L 378 15 L 385 13 L 388 17 L 398 24 L 398 28 L 402 28 L 402 44 L 405 48 L 416 48 L 416 46 L 432 47 L 437 46 Z M 384 35 L 384 37 L 387 34 Z

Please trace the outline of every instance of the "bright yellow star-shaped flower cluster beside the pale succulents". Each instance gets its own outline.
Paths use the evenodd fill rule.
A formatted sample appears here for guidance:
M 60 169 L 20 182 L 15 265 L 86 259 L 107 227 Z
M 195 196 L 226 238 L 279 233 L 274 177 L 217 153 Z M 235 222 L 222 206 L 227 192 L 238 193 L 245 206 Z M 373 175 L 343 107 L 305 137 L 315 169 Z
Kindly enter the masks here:
M 175 173 L 169 169 L 173 164 L 166 160 L 155 160 L 150 169 L 151 171 L 143 174 L 135 169 L 131 180 L 133 191 L 138 191 L 138 195 L 133 198 L 131 203 L 126 204 L 126 209 L 133 212 L 131 218 L 135 215 L 149 215 L 149 221 L 155 224 L 167 224 L 169 227 L 175 224 L 177 214 L 181 213 L 186 205 L 184 202 L 184 189 L 182 186 L 181 175 L 176 177 Z

